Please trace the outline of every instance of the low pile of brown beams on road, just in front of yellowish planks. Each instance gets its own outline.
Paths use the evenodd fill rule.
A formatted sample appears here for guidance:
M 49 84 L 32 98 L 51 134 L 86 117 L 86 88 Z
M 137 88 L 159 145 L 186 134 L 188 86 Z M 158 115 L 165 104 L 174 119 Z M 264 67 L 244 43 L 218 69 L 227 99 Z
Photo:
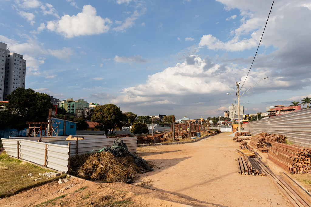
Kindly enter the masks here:
M 238 172 L 242 175 L 262 175 L 267 176 L 271 174 L 270 170 L 256 158 L 247 156 L 239 156 L 237 158 Z

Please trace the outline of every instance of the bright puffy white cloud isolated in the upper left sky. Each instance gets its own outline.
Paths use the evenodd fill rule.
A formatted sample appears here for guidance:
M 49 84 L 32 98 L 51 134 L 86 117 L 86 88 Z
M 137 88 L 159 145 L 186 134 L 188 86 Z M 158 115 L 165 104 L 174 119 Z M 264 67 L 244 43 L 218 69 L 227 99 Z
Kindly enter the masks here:
M 91 5 L 83 6 L 77 15 L 64 15 L 58 21 L 49 21 L 47 28 L 56 31 L 66 38 L 80 35 L 101 34 L 109 31 L 111 20 L 96 15 L 96 9 Z

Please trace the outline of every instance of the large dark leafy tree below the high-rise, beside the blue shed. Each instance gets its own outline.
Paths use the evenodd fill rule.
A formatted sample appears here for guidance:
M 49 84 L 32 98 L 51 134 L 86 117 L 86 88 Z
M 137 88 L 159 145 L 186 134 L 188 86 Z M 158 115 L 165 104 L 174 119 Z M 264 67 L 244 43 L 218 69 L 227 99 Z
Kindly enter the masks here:
M 1 124 L 19 131 L 28 126 L 28 121 L 47 121 L 49 109 L 52 108 L 48 94 L 30 88 L 17 88 L 7 95 L 7 101 L 7 109 L 0 112 Z

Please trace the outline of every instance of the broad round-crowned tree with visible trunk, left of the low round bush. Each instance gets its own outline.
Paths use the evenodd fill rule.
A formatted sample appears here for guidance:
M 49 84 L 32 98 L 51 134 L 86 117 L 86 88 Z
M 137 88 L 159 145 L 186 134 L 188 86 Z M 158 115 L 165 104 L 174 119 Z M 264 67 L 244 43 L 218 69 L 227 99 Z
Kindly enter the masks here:
M 118 106 L 105 104 L 94 109 L 91 120 L 103 125 L 106 134 L 108 131 L 112 134 L 115 127 L 121 126 L 122 117 L 122 111 Z

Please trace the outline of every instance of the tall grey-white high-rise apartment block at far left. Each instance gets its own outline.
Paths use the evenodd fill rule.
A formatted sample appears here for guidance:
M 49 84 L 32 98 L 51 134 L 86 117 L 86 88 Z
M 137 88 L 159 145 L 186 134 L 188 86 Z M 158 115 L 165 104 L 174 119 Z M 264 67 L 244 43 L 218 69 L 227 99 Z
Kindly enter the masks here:
M 25 88 L 26 60 L 8 49 L 7 44 L 0 42 L 0 101 L 6 101 L 16 88 Z

